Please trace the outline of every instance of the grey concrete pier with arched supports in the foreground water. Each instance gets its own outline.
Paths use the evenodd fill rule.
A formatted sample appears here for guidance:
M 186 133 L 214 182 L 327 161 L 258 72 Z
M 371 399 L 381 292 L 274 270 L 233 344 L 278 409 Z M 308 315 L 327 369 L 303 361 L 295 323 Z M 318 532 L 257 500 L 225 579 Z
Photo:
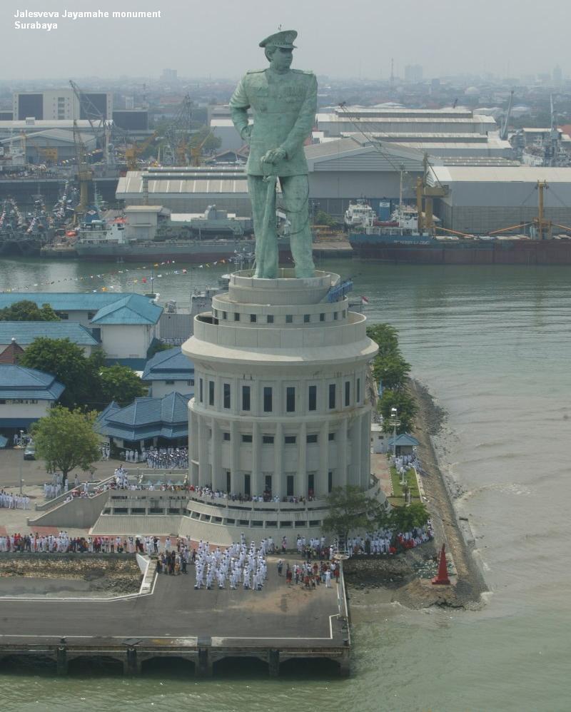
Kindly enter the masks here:
M 151 593 L 134 597 L 0 597 L 0 665 L 33 656 L 65 675 L 71 666 L 106 660 L 137 675 L 168 658 L 208 677 L 228 658 L 256 658 L 278 676 L 288 661 L 325 658 L 348 674 L 343 577 L 331 589 L 288 586 L 275 569 L 263 591 L 196 591 L 193 584 L 191 575 L 161 574 Z

